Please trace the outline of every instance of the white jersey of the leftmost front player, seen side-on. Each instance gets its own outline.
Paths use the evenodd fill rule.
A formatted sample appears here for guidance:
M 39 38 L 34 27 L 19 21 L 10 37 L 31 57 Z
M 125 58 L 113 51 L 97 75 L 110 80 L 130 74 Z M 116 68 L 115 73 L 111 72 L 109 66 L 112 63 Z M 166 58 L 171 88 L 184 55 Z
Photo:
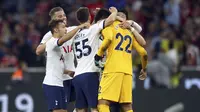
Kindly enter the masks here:
M 46 42 L 46 75 L 43 84 L 63 87 L 64 58 L 62 46 L 57 45 L 58 38 L 52 37 Z

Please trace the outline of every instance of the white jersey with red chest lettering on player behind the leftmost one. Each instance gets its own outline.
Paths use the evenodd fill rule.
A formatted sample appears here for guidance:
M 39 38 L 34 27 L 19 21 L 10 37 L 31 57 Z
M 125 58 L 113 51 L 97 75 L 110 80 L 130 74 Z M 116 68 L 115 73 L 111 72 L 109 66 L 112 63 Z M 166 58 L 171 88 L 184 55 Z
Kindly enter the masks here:
M 76 26 L 67 27 L 67 32 L 70 32 L 75 28 Z M 46 43 L 51 37 L 52 37 L 52 33 L 51 31 L 49 31 L 43 36 L 40 43 L 42 44 Z M 72 50 L 72 42 L 73 42 L 73 38 L 65 42 L 62 45 L 62 50 L 64 51 L 63 56 L 64 56 L 65 69 L 70 70 L 70 71 L 75 71 L 74 52 Z M 67 74 L 63 74 L 63 80 L 69 80 L 69 79 L 72 79 L 72 77 L 70 77 Z

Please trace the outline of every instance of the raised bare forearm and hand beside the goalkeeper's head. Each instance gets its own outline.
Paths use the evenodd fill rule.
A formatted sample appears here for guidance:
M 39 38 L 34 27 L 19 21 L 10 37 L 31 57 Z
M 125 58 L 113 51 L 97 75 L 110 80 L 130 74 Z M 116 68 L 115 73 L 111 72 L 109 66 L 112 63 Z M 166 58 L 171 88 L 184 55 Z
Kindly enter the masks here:
M 117 9 L 115 7 L 110 7 L 109 11 L 111 12 L 110 16 L 105 19 L 104 27 L 111 25 L 115 20 L 117 16 Z

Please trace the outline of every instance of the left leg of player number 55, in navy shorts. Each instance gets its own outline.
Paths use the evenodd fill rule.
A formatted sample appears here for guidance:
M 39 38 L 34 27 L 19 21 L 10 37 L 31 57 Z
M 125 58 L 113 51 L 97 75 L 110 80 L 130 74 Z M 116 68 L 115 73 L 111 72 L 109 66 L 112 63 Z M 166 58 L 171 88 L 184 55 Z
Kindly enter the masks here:
M 83 92 L 82 80 L 84 80 L 82 75 L 78 75 L 73 79 L 73 85 L 76 93 L 75 108 L 77 112 L 87 112 L 87 99 Z

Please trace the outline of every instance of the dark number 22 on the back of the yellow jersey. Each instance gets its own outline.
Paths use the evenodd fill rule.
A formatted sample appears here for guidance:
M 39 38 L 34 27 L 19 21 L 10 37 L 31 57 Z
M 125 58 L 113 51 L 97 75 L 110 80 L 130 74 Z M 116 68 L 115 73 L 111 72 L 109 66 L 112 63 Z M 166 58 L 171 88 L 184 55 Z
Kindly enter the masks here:
M 127 53 L 131 53 L 130 47 L 132 43 L 132 38 L 129 35 L 122 36 L 120 33 L 117 33 L 116 39 L 120 39 L 120 42 L 115 47 L 115 50 L 126 51 Z M 125 48 L 122 47 L 124 41 L 128 41 L 128 44 Z

